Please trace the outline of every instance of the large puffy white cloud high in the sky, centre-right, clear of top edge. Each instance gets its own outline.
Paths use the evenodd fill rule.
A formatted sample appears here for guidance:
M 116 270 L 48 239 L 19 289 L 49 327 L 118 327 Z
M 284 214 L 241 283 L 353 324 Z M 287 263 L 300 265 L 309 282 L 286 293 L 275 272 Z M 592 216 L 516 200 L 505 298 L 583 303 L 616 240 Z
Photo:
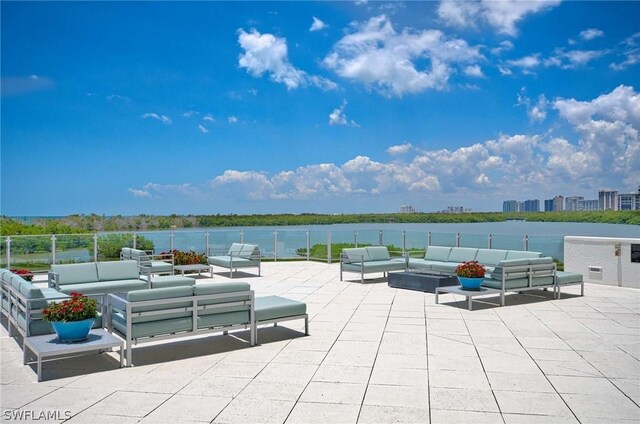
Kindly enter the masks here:
M 352 32 L 338 41 L 323 63 L 343 78 L 376 88 L 386 96 L 402 96 L 428 89 L 444 89 L 452 65 L 482 59 L 479 47 L 462 39 L 447 38 L 438 30 L 398 33 L 391 21 L 380 15 L 354 23 Z M 430 61 L 418 69 L 416 62 Z

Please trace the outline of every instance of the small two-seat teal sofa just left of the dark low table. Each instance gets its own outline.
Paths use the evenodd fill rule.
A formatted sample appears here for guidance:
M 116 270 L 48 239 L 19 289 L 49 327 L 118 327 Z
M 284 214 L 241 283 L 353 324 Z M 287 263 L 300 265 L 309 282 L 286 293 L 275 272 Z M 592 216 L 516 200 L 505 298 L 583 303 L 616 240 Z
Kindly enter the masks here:
M 405 258 L 391 258 L 386 246 L 352 247 L 340 254 L 340 281 L 344 272 L 357 272 L 360 282 L 372 272 L 403 271 L 407 269 Z

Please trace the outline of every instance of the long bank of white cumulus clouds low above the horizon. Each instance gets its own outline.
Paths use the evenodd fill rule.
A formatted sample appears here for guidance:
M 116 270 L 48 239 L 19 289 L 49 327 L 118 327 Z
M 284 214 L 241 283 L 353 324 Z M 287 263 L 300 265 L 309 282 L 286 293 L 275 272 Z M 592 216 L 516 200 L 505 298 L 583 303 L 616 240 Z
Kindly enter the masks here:
M 149 183 L 129 192 L 141 198 L 207 194 L 243 201 L 386 199 L 397 194 L 480 199 L 620 186 L 621 181 L 629 187 L 640 184 L 640 94 L 633 87 L 621 85 L 590 100 L 545 102 L 573 135 L 501 134 L 454 150 L 407 142 L 389 147 L 393 157 L 386 162 L 356 156 L 275 173 L 227 170 L 201 188 Z

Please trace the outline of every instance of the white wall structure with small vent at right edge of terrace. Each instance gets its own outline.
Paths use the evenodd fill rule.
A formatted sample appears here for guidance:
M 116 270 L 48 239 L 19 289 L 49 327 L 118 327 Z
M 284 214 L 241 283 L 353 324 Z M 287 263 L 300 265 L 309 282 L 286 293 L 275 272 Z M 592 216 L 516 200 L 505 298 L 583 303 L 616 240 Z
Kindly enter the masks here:
M 582 274 L 585 283 L 640 288 L 640 262 L 631 262 L 632 244 L 640 245 L 640 238 L 566 236 L 564 269 Z

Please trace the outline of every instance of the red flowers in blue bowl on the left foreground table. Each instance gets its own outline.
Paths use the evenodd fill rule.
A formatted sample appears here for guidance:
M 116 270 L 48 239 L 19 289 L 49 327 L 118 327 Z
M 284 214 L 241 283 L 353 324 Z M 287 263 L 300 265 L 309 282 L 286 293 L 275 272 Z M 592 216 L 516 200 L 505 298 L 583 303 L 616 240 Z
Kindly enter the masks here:
M 85 340 L 98 316 L 98 302 L 78 292 L 71 292 L 70 296 L 42 309 L 43 318 L 51 323 L 61 341 Z

